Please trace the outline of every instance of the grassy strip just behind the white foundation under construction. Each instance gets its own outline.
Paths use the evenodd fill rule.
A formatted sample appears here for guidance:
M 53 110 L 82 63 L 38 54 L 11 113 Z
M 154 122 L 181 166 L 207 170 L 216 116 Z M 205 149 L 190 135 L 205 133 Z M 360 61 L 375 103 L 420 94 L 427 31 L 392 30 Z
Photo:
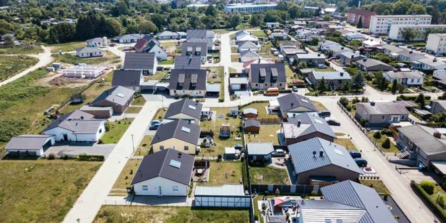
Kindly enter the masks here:
M 112 54 L 111 52 L 104 51 L 104 56 L 91 57 L 91 58 L 79 58 L 73 54 L 56 54 L 53 56 L 55 61 L 63 63 L 86 63 L 86 64 L 99 64 L 99 63 L 117 63 L 121 61 L 119 56 Z

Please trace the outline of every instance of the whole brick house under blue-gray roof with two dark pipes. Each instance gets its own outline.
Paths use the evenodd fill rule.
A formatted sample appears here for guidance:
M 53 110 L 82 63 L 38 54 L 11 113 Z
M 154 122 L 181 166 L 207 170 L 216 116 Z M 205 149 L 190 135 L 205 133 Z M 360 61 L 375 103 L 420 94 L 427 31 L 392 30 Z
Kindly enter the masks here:
M 345 147 L 319 137 L 288 145 L 298 184 L 326 186 L 357 181 L 362 170 Z

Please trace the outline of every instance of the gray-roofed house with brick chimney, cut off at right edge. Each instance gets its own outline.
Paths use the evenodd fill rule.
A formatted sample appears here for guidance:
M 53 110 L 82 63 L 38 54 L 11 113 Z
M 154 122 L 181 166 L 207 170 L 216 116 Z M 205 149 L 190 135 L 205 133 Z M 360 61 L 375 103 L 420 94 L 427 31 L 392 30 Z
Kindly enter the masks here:
M 417 167 L 432 168 L 446 161 L 446 136 L 435 128 L 418 124 L 400 127 L 396 145 L 409 152 L 405 158 L 416 161 Z

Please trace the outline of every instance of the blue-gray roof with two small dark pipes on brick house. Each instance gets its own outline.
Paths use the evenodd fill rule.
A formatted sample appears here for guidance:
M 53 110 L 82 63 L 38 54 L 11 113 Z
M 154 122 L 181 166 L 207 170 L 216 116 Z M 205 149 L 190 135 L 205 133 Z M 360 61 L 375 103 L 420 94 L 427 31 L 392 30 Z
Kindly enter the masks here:
M 363 173 L 345 147 L 319 137 L 289 145 L 288 150 L 296 173 L 328 165 Z M 320 156 L 320 151 L 323 151 L 323 156 Z

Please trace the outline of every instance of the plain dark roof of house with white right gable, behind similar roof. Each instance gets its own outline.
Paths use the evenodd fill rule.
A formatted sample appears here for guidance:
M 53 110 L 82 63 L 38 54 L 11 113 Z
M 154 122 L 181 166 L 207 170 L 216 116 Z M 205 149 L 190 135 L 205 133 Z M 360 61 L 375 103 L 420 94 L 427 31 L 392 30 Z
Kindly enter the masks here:
M 155 53 L 125 53 L 124 69 L 151 70 L 155 66 Z

